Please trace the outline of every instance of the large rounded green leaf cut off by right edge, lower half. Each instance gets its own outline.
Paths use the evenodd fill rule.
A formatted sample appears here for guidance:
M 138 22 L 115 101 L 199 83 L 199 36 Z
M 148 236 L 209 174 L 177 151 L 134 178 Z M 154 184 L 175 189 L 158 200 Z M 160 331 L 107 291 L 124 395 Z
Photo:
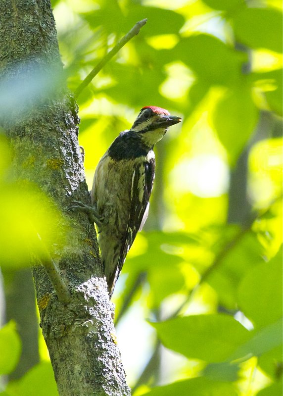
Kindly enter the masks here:
M 282 252 L 256 266 L 238 289 L 238 305 L 256 327 L 274 323 L 282 316 Z

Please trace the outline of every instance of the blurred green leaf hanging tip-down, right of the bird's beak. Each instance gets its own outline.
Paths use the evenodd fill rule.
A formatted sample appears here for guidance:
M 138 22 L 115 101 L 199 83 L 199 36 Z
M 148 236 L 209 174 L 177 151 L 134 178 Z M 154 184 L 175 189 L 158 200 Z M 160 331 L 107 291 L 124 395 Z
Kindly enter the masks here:
M 244 86 L 228 91 L 217 103 L 212 121 L 232 164 L 254 131 L 258 115 L 251 92 Z

